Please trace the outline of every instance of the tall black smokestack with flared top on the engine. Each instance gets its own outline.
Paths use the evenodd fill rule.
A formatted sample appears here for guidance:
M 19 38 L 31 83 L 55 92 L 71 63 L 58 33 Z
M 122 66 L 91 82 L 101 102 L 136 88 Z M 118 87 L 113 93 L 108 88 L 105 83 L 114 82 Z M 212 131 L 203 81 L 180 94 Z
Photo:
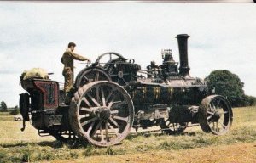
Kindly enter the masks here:
M 179 50 L 179 74 L 183 77 L 189 77 L 189 62 L 188 62 L 188 38 L 187 34 L 177 35 L 177 44 Z

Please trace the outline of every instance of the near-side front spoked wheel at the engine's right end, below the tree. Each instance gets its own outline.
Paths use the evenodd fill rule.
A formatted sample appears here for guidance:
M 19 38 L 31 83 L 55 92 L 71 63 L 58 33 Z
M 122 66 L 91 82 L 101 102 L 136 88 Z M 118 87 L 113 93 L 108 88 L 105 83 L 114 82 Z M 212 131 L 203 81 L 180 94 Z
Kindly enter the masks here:
M 224 135 L 229 131 L 232 121 L 232 109 L 226 98 L 212 95 L 202 100 L 199 107 L 199 123 L 204 132 Z

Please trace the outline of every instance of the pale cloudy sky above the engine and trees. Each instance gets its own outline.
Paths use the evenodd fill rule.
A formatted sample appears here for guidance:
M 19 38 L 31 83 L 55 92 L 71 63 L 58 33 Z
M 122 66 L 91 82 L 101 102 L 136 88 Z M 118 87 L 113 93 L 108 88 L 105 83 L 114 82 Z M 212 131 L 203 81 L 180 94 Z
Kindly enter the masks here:
M 40 67 L 63 82 L 68 42 L 92 61 L 109 51 L 145 67 L 189 34 L 190 75 L 230 70 L 256 96 L 256 9 L 252 3 L 0 3 L 0 101 L 19 102 L 20 74 Z M 77 74 L 84 65 L 75 62 Z

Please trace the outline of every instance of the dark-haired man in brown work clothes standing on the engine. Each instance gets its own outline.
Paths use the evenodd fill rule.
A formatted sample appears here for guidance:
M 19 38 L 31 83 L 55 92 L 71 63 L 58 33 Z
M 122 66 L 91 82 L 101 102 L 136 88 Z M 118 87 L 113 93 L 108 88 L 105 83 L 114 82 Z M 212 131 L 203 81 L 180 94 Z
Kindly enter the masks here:
M 77 53 L 73 53 L 74 48 L 76 47 L 76 44 L 74 42 L 69 42 L 67 46 L 67 50 L 63 53 L 61 57 L 61 63 L 64 64 L 64 69 L 62 71 L 62 75 L 65 78 L 64 83 L 64 92 L 66 94 L 65 103 L 68 104 L 70 102 L 70 91 L 73 88 L 73 60 L 81 60 L 85 61 L 88 60 L 90 62 L 90 59 L 87 59 Z

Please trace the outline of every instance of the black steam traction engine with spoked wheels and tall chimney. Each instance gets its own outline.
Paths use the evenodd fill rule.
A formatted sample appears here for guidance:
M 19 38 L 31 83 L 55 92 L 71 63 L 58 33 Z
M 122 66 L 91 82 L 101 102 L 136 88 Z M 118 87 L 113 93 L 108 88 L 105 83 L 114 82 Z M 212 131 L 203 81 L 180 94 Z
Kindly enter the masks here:
M 147 70 L 119 53 L 102 54 L 79 72 L 70 104 L 64 104 L 58 82 L 21 79 L 27 92 L 20 94 L 24 126 L 31 113 L 40 135 L 62 141 L 80 138 L 96 146 L 119 143 L 131 127 L 160 126 L 174 134 L 191 122 L 199 123 L 204 132 L 228 132 L 233 116 L 228 100 L 189 76 L 188 37 L 177 35 L 179 68 L 168 49 L 162 51 L 162 65 L 151 62 Z

